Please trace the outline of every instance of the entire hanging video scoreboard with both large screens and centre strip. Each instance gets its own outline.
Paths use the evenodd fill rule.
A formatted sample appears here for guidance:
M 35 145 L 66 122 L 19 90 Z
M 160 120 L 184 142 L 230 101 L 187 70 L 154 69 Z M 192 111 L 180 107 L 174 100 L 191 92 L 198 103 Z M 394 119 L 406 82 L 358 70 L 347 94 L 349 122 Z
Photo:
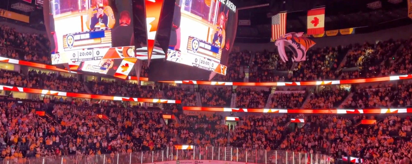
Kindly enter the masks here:
M 174 1 L 165 0 L 69 1 L 48 2 L 53 19 L 52 64 L 123 78 L 138 68 L 134 66 L 138 59 L 166 58 L 153 62 L 163 65 L 150 61 L 147 65 L 151 70 L 193 66 L 203 70 L 192 72 L 207 73 L 208 78 L 207 71 L 226 75 L 227 66 L 222 64 L 227 63 L 237 25 L 236 7 L 229 0 L 200 0 L 205 8 L 184 0 L 173 6 Z

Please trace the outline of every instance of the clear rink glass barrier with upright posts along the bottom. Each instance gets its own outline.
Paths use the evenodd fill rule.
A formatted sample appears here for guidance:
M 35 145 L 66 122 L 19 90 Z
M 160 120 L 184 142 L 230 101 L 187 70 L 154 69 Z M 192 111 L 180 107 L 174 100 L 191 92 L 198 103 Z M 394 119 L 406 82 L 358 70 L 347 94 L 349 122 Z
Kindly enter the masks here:
M 104 155 L 66 155 L 3 159 L 3 164 L 331 164 L 328 155 L 255 148 L 198 147 L 165 148 Z

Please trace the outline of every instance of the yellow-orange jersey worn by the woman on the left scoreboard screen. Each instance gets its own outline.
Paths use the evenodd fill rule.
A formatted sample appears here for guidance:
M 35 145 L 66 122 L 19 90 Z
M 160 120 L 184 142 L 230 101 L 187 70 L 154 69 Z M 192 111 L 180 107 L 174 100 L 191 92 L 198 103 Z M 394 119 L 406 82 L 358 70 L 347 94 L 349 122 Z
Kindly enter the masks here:
M 94 30 L 96 25 L 99 25 L 100 27 L 108 27 L 108 28 L 113 28 L 115 26 L 115 23 L 116 23 L 115 15 L 110 6 L 105 6 L 103 8 L 104 14 L 100 19 L 96 17 L 97 11 L 98 11 L 97 7 L 91 7 L 87 11 L 87 16 L 88 16 L 87 21 L 86 21 L 87 29 Z

